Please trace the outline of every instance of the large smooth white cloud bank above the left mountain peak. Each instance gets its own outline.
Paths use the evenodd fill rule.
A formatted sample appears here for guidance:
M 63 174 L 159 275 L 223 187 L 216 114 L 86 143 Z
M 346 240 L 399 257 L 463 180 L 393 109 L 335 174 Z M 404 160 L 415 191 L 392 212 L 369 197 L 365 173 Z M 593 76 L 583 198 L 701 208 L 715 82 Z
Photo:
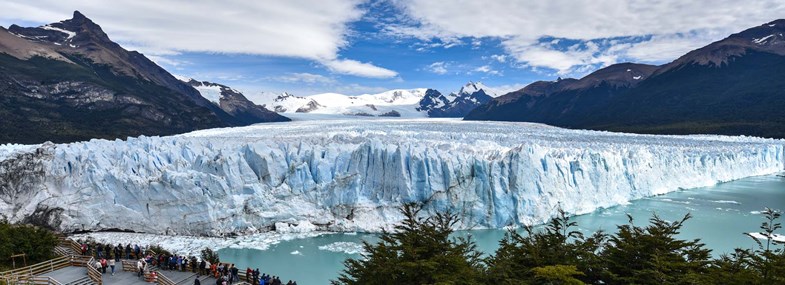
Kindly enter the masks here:
M 296 57 L 323 63 L 337 73 L 392 77 L 388 69 L 338 59 L 348 45 L 348 23 L 364 13 L 362 2 L 0 0 L 0 23 L 49 23 L 79 10 L 113 40 L 159 57 L 178 52 Z

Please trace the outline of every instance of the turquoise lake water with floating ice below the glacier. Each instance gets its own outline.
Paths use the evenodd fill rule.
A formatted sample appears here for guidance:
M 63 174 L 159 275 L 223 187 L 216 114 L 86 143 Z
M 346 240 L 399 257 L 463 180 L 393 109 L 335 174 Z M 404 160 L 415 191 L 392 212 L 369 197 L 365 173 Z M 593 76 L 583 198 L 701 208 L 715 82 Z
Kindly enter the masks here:
M 612 233 L 616 225 L 627 223 L 627 214 L 636 225 L 645 225 L 653 214 L 666 220 L 680 219 L 687 213 L 693 218 L 685 223 L 680 237 L 701 238 L 719 256 L 736 247 L 752 248 L 755 243 L 745 232 L 757 231 L 764 207 L 785 209 L 785 178 L 777 175 L 750 177 L 710 187 L 687 189 L 636 200 L 628 205 L 600 209 L 576 216 L 580 230 Z M 471 230 L 479 249 L 491 254 L 504 236 L 504 230 Z M 300 285 L 329 284 L 343 269 L 347 258 L 360 257 L 363 240 L 374 242 L 373 234 L 326 234 L 306 239 L 284 241 L 266 250 L 226 248 L 221 259 L 231 260 L 239 268 L 259 267 L 261 272 L 296 280 Z

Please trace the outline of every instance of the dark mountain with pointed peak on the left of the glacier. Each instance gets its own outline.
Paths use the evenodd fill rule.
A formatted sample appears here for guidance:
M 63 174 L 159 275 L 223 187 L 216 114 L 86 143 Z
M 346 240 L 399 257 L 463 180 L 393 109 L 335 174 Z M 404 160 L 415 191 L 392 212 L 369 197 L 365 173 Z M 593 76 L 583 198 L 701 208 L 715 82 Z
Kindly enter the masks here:
M 40 27 L 0 27 L 0 120 L 0 143 L 40 143 L 288 119 L 227 113 L 74 12 Z

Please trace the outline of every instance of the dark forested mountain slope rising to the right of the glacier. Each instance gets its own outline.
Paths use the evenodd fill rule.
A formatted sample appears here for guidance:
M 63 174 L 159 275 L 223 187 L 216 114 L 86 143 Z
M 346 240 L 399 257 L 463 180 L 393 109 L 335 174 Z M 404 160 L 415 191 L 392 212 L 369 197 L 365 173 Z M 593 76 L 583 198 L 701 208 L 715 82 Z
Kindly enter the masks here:
M 729 36 L 655 67 L 617 64 L 580 80 L 535 82 L 467 120 L 571 128 L 785 137 L 785 20 Z

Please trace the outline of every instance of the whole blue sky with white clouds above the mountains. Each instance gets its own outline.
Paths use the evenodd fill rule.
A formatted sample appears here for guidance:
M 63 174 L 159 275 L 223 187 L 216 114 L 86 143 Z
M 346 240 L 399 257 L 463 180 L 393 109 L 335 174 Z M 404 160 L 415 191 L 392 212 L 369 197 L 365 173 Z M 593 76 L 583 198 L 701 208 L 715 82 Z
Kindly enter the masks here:
M 514 90 L 661 64 L 785 18 L 782 0 L 0 0 L 0 25 L 79 10 L 174 74 L 256 93 Z

